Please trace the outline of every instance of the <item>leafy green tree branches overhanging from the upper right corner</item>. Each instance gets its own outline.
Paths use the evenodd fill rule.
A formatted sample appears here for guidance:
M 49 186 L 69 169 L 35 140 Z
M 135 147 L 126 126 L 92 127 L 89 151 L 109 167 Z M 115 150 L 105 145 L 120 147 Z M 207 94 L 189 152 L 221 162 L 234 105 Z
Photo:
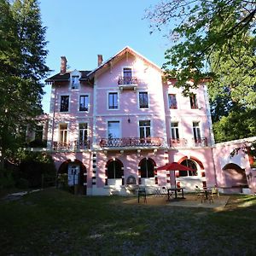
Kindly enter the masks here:
M 232 67 L 232 79 L 225 79 L 225 86 L 232 88 L 234 96 L 242 91 L 253 104 L 255 14 L 254 0 L 169 0 L 149 9 L 146 17 L 152 31 L 171 26 L 174 45 L 166 50 L 166 78 L 175 76 L 176 85 L 188 95 L 202 79 L 223 79 L 217 71 L 218 64 L 224 63 L 226 68 Z M 243 52 L 246 55 L 241 58 Z M 236 83 L 234 75 L 239 75 Z

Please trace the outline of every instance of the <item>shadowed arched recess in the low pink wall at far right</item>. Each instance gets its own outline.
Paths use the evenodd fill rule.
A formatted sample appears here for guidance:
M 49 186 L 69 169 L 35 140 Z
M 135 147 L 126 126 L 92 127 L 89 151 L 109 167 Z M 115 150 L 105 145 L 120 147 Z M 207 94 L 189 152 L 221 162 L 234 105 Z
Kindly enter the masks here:
M 230 163 L 223 167 L 226 187 L 230 188 L 248 188 L 245 169 Z

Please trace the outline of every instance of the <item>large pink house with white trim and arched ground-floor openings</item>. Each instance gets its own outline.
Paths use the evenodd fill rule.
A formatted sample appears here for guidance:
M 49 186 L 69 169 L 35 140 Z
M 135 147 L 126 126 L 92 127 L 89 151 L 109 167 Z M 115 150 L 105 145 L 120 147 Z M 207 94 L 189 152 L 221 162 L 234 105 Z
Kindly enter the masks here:
M 84 194 L 128 195 L 135 184 L 153 192 L 175 180 L 187 191 L 255 188 L 247 155 L 232 162 L 232 147 L 214 143 L 206 84 L 183 96 L 175 79 L 165 82 L 160 67 L 130 47 L 108 61 L 98 55 L 93 71 L 67 71 L 63 56 L 61 73 L 46 82 L 52 86 L 47 150 L 58 173 Z M 172 161 L 196 172 L 156 170 Z M 234 168 L 238 176 L 225 174 Z

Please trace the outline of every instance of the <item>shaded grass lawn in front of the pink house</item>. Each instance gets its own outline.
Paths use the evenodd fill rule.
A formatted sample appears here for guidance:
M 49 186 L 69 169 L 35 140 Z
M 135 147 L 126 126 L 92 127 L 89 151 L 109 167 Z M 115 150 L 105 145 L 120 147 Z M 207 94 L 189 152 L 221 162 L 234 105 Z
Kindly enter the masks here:
M 224 211 L 45 189 L 0 200 L 0 255 L 255 255 L 256 196 Z

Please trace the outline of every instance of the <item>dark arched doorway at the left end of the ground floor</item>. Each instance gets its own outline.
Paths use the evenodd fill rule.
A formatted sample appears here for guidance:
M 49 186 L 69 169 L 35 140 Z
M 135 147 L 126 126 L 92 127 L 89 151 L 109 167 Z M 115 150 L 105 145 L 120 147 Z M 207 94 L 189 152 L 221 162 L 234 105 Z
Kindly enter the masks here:
M 61 164 L 58 170 L 58 177 L 62 183 L 73 191 L 74 184 L 77 184 L 77 193 L 86 195 L 87 192 L 87 170 L 80 160 L 66 160 Z M 65 179 L 65 180 L 64 180 Z

